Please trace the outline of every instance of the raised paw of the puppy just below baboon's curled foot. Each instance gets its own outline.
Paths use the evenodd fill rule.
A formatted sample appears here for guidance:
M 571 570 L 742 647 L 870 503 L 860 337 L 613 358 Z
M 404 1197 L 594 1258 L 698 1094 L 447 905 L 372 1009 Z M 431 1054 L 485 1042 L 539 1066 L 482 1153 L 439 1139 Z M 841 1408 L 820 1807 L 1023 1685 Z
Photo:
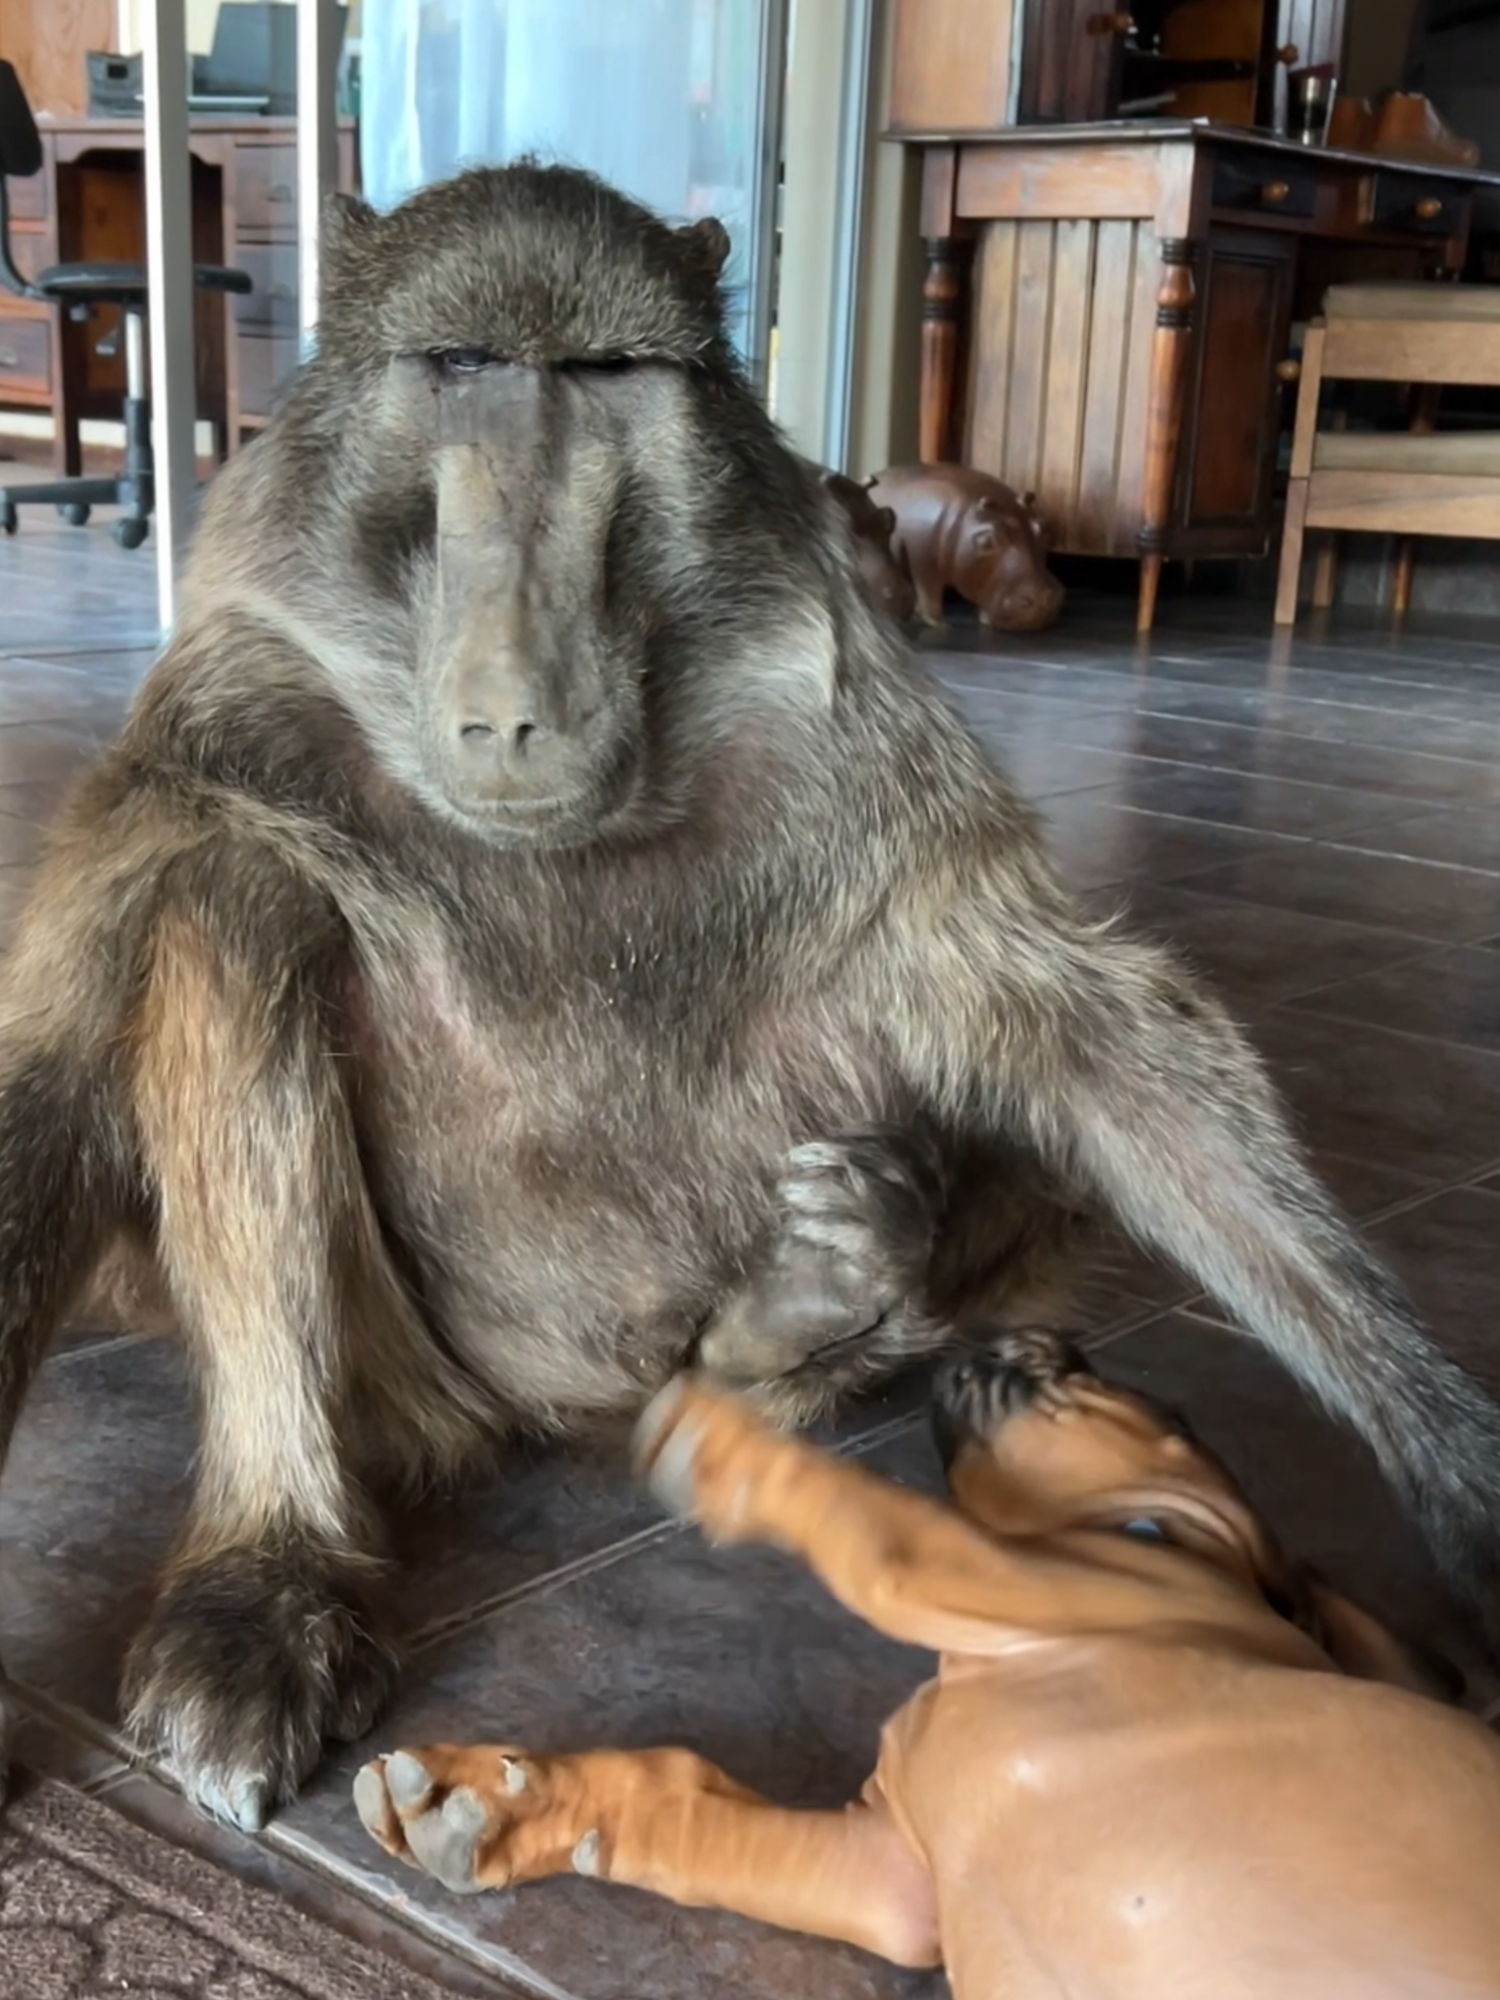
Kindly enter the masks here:
M 740 1396 L 678 1376 L 636 1424 L 636 1468 L 660 1504 L 710 1540 L 752 1540 L 812 1448 L 772 1430 Z

